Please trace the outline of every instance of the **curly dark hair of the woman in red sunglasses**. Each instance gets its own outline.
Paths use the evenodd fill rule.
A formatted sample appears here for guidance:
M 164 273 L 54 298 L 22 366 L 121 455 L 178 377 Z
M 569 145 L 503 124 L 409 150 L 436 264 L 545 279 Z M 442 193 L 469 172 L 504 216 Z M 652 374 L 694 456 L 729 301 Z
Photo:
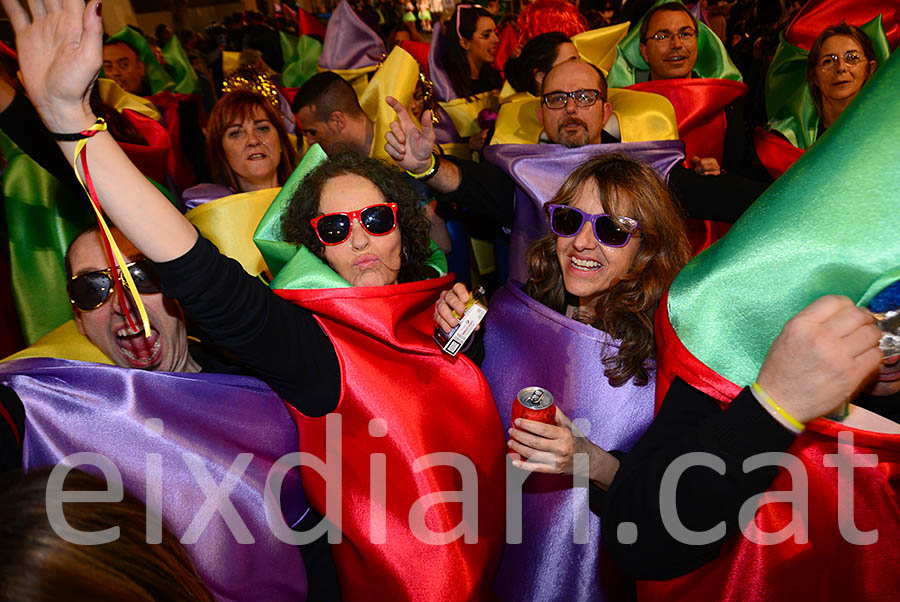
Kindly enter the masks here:
M 386 200 L 397 203 L 397 226 L 401 240 L 398 282 L 414 282 L 437 276 L 437 272 L 425 264 L 432 253 L 428 218 L 419 206 L 406 175 L 383 161 L 352 151 L 329 157 L 303 179 L 281 218 L 284 239 L 304 245 L 325 261 L 325 246 L 309 221 L 319 215 L 319 197 L 325 183 L 345 174 L 366 178 L 378 187 Z

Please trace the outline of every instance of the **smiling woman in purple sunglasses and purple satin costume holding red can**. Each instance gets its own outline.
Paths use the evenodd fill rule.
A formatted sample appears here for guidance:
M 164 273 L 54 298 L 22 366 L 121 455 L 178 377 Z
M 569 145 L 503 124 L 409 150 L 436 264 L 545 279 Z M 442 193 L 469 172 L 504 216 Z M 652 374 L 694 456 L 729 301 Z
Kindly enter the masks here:
M 588 519 L 570 475 L 608 488 L 619 454 L 606 450 L 629 450 L 653 419 L 653 315 L 690 248 L 665 184 L 624 155 L 577 167 L 544 207 L 550 233 L 528 250 L 527 282 L 500 289 L 484 325 L 481 367 L 513 465 L 543 473 L 523 486 L 522 543 L 507 545 L 495 588 L 510 600 L 602 599 L 616 591 L 616 571 L 603 566 L 599 518 Z M 452 312 L 462 315 L 468 298 L 460 283 L 445 291 L 436 325 L 456 326 Z M 480 355 L 475 344 L 469 353 Z M 555 424 L 510 424 L 526 386 L 551 392 Z M 518 524 L 507 516 L 508 530 Z

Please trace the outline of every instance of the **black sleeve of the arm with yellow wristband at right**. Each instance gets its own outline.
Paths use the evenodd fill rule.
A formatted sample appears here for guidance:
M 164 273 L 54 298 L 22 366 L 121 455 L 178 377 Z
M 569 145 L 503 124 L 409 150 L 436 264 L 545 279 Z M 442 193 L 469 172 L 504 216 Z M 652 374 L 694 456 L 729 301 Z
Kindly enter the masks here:
M 672 579 L 716 558 L 722 543 L 738 529 L 741 505 L 765 491 L 777 474 L 774 466 L 745 473 L 744 460 L 763 452 L 783 452 L 794 438 L 749 389 L 722 411 L 712 397 L 676 379 L 653 424 L 623 458 L 607 494 L 602 532 L 613 560 L 636 579 Z M 712 454 L 725 466 L 724 475 L 693 466 L 677 482 L 674 509 L 684 527 L 705 531 L 725 522 L 725 537 L 705 545 L 678 541 L 663 524 L 660 511 L 666 469 L 690 452 Z M 637 526 L 634 543 L 619 541 L 618 527 L 623 523 Z

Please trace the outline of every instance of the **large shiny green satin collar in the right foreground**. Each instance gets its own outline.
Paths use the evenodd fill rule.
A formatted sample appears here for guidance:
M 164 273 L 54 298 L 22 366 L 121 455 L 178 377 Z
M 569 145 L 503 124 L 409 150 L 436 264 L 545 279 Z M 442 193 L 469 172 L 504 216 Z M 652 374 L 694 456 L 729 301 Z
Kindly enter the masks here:
M 892 57 L 852 106 L 669 291 L 684 346 L 739 386 L 753 382 L 785 322 L 826 294 L 865 305 L 900 279 L 900 60 Z M 835 169 L 840 165 L 840 169 Z M 736 342 L 742 352 L 735 353 Z

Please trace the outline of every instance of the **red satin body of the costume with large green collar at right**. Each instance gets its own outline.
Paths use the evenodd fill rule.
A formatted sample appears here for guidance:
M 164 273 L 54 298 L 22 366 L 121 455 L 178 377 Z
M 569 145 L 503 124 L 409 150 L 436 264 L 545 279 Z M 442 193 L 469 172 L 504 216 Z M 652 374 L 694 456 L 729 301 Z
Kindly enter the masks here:
M 656 314 L 657 408 L 675 376 L 716 398 L 725 408 L 741 387 L 713 372 L 678 340 L 669 321 L 667 297 Z M 853 545 L 838 526 L 838 470 L 823 463 L 838 448 L 838 434 L 853 434 L 852 453 L 875 454 L 874 467 L 853 471 L 853 520 L 860 531 L 878 530 L 871 545 Z M 851 448 L 842 444 L 844 448 Z M 716 560 L 668 581 L 638 582 L 642 600 L 887 600 L 900 592 L 900 435 L 849 428 L 815 420 L 787 453 L 798 458 L 809 479 L 808 542 L 790 538 L 758 545 L 732 537 Z M 769 492 L 790 491 L 791 476 L 779 469 Z M 787 503 L 768 503 L 756 513 L 763 532 L 776 532 L 792 519 Z

